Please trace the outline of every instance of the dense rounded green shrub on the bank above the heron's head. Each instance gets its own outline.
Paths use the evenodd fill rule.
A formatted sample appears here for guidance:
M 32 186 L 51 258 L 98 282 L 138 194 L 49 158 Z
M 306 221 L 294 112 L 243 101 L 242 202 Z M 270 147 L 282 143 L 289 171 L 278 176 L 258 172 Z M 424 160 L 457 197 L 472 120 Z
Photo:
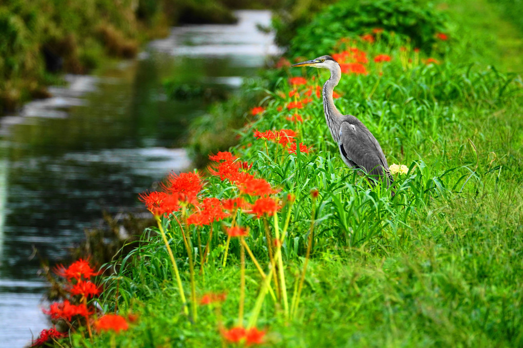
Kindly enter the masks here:
M 383 29 L 382 39 L 400 36 L 414 47 L 430 51 L 436 33 L 445 31 L 445 15 L 430 3 L 411 0 L 342 0 L 324 8 L 310 25 L 298 30 L 290 41 L 293 56 L 329 52 L 339 39 Z M 394 34 L 390 34 L 394 32 Z

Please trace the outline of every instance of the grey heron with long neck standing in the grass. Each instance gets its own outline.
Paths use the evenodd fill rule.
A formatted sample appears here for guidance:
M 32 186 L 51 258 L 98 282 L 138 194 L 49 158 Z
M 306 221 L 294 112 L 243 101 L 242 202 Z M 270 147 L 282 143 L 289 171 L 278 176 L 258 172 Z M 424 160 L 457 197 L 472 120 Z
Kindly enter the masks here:
M 334 105 L 334 87 L 342 77 L 339 64 L 331 56 L 323 55 L 292 66 L 314 66 L 331 71 L 331 77 L 323 85 L 323 110 L 328 129 L 338 144 L 343 161 L 350 168 L 359 168 L 371 177 L 379 177 L 389 186 L 392 182 L 389 165 L 374 135 L 360 120 L 353 115 L 343 115 Z

